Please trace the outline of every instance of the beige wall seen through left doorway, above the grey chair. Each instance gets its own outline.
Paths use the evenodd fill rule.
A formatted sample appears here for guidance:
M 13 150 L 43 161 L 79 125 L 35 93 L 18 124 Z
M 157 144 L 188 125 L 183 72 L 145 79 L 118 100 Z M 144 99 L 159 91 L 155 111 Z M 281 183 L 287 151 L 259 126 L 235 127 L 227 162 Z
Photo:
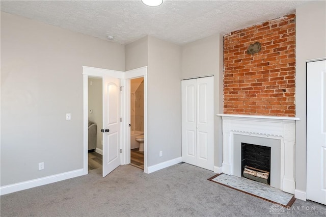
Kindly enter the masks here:
M 103 150 L 101 132 L 103 126 L 102 79 L 88 78 L 88 120 L 96 123 L 96 148 Z M 92 113 L 90 112 L 92 110 Z

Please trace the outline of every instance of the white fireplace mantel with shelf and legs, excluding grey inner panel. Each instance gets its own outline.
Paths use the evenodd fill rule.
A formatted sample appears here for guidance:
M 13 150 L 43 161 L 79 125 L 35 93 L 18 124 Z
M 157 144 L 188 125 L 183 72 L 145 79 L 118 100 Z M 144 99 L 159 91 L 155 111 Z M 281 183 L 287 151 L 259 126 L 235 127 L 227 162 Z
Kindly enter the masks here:
M 222 171 L 234 175 L 234 134 L 280 140 L 280 188 L 294 194 L 295 121 L 299 118 L 255 115 L 227 115 L 222 117 Z

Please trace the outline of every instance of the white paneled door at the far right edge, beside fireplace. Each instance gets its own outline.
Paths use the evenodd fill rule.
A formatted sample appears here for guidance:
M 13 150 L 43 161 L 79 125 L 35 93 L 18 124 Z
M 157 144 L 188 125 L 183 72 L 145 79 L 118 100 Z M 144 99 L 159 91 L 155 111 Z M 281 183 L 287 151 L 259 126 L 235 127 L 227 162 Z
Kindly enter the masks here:
M 326 205 L 326 60 L 307 63 L 307 199 Z

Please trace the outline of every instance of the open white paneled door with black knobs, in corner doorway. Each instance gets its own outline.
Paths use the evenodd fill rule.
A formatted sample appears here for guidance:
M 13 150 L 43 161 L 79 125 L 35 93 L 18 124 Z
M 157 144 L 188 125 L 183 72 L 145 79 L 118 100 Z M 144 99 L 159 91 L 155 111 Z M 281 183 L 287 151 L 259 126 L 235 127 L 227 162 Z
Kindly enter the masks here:
M 103 177 L 120 166 L 120 79 L 103 77 Z

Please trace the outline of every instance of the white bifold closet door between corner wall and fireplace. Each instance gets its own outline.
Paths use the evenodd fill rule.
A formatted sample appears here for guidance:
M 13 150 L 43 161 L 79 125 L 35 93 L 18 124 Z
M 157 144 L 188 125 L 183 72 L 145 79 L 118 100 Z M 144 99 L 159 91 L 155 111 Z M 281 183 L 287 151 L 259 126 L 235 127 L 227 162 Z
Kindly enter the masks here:
M 214 170 L 214 77 L 181 81 L 182 161 Z

